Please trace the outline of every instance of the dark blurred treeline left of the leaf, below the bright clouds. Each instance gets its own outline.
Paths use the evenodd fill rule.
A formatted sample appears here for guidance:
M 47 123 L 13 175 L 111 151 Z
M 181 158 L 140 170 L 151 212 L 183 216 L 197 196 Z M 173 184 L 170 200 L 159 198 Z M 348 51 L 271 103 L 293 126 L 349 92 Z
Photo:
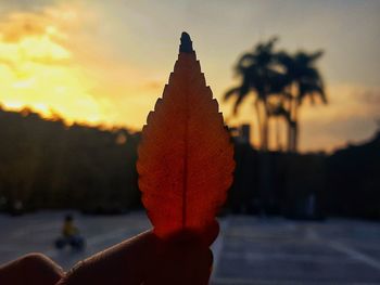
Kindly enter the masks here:
M 139 205 L 139 134 L 0 109 L 0 208 L 122 211 Z

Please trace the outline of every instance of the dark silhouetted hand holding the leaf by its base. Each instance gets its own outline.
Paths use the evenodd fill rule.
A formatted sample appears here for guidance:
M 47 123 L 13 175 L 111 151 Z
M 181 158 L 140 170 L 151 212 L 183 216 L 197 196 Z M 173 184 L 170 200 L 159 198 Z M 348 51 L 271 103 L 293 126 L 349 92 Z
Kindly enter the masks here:
M 217 233 L 214 226 L 208 233 L 212 241 Z M 192 233 L 164 241 L 149 231 L 78 262 L 65 274 L 42 255 L 20 258 L 0 268 L 0 284 L 203 285 L 208 283 L 212 262 L 208 244 Z

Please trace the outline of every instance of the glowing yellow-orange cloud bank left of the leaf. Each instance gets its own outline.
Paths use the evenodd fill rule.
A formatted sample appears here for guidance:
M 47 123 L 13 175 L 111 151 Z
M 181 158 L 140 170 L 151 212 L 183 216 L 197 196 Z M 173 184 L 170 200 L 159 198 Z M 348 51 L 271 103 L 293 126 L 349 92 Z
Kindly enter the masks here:
M 15 12 L 0 23 L 0 103 L 58 113 L 67 122 L 140 129 L 165 80 L 115 59 L 112 46 L 90 33 L 101 23 L 81 9 Z

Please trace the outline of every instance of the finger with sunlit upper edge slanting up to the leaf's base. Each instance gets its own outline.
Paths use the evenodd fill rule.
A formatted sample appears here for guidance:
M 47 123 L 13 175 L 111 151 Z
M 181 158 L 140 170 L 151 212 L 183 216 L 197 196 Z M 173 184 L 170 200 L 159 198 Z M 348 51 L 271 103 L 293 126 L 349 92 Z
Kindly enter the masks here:
M 140 285 L 155 243 L 151 231 L 127 239 L 80 261 L 58 285 Z

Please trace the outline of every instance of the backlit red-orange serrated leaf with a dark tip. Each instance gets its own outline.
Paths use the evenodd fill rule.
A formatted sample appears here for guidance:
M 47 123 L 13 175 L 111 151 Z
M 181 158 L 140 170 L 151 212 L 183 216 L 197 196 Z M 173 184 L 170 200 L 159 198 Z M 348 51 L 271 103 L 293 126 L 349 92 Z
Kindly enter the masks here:
M 186 33 L 174 73 L 147 122 L 137 169 L 154 232 L 165 237 L 190 230 L 207 238 L 232 182 L 233 148 Z

